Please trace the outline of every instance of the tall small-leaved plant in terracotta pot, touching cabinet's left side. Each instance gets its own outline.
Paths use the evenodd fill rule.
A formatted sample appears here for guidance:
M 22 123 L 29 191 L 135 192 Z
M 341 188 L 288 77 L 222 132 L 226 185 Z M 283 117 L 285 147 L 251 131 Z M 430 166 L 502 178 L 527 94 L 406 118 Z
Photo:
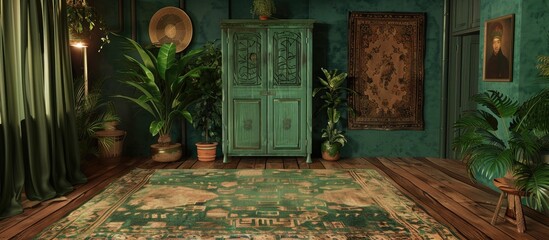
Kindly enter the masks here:
M 193 84 L 200 98 L 192 108 L 193 127 L 204 138 L 196 143 L 198 160 L 213 161 L 216 158 L 219 132 L 221 130 L 221 49 L 215 42 L 206 43 L 204 52 L 190 68 L 207 67 Z

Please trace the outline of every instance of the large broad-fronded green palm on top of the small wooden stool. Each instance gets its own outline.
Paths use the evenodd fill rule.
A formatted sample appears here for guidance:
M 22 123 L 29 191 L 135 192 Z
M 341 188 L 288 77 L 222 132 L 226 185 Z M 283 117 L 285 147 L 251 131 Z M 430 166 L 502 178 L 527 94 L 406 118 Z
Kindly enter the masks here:
M 540 63 L 540 69 L 547 69 L 547 59 Z M 542 75 L 549 76 L 543 71 Z M 482 108 L 465 112 L 455 123 L 459 134 L 453 142 L 470 176 L 494 179 L 507 175 L 512 184 L 528 192 L 531 207 L 548 211 L 549 164 L 542 153 L 549 149 L 549 89 L 523 103 L 495 90 L 473 100 Z

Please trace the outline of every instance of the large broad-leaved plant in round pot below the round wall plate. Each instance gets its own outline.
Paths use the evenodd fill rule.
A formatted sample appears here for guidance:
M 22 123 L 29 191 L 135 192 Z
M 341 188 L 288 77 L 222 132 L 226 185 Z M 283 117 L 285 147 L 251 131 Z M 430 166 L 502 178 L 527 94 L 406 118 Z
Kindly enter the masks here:
M 132 54 L 124 55 L 130 67 L 121 72 L 125 76 L 122 83 L 137 90 L 138 95 L 116 97 L 129 100 L 153 117 L 149 132 L 159 137 L 158 143 L 151 145 L 152 159 L 177 161 L 182 155 L 181 144 L 172 143 L 170 132 L 173 123 L 181 118 L 192 122 L 187 109 L 200 94 L 194 91 L 192 79 L 199 78 L 205 68 L 188 66 L 203 50 L 191 50 L 177 59 L 175 44 L 166 43 L 156 49 L 158 54 L 154 56 L 134 40 L 120 37 Z

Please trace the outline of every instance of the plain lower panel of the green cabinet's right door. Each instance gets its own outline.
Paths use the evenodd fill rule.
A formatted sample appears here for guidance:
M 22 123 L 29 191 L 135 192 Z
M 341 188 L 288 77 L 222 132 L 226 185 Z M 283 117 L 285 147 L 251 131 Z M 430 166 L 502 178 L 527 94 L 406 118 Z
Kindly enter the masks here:
M 303 101 L 299 98 L 274 99 L 272 108 L 272 141 L 268 151 L 303 148 Z

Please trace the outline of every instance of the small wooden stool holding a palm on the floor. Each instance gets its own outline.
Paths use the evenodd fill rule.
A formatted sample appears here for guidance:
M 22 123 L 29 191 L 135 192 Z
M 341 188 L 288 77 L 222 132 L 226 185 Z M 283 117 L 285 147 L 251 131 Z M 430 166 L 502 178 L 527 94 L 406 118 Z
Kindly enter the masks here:
M 496 224 L 503 198 L 507 196 L 507 209 L 503 217 L 505 220 L 517 226 L 517 232 L 523 233 L 526 231 L 526 223 L 524 221 L 524 214 L 522 213 L 522 202 L 520 201 L 520 197 L 525 196 L 526 192 L 516 189 L 509 179 L 505 178 L 494 179 L 494 185 L 501 190 L 501 195 L 499 196 L 496 212 L 492 217 L 491 224 Z

